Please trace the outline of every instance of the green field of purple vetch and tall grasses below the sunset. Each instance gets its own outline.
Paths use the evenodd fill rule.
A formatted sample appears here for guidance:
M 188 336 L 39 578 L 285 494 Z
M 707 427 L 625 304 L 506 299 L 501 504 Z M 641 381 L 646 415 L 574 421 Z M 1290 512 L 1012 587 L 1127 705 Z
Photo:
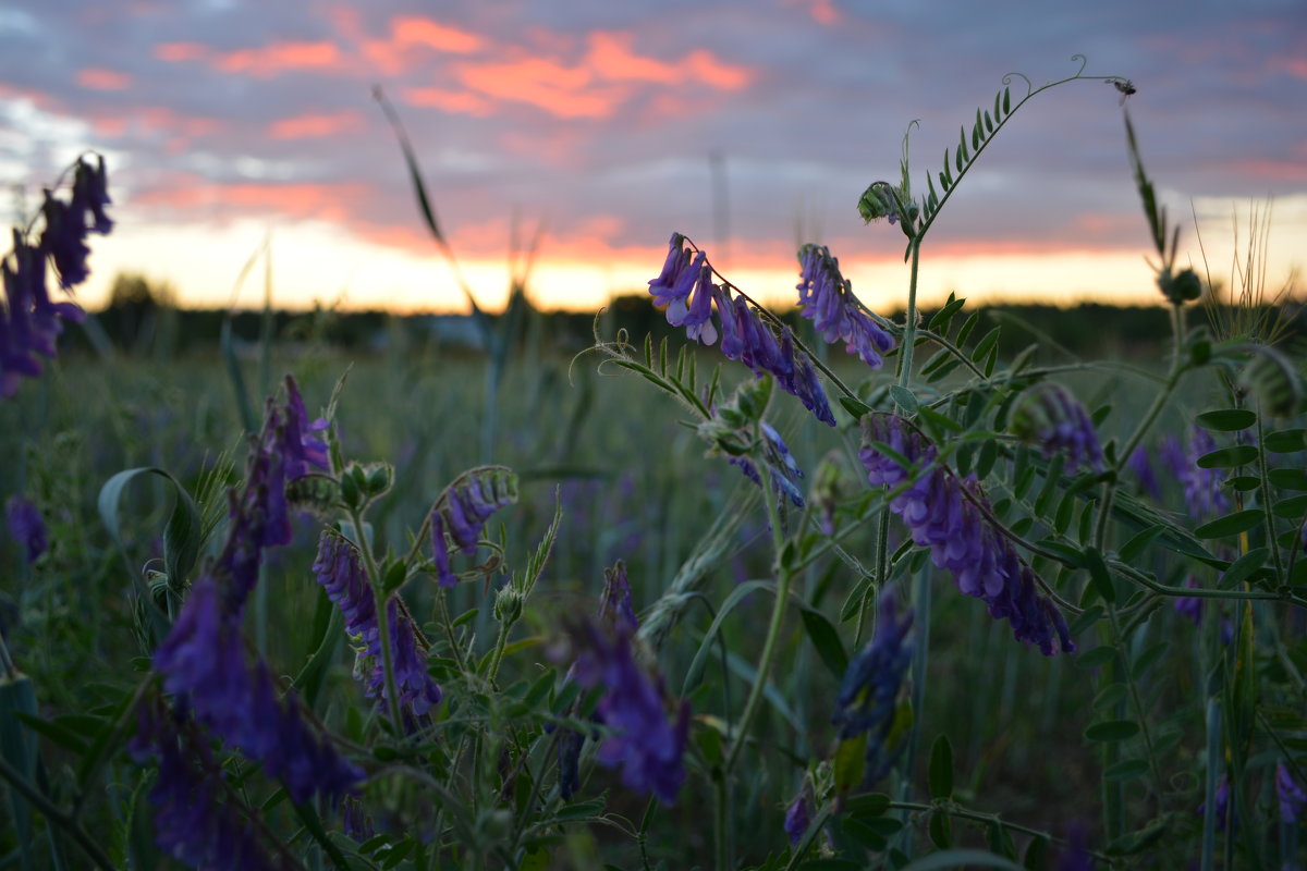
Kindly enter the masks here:
M 916 304 L 967 170 L 1082 81 L 1157 358 Z M 4 260 L 3 867 L 1303 867 L 1297 312 L 1255 248 L 1223 295 L 1178 256 L 1131 93 L 1014 77 L 942 168 L 904 140 L 850 196 L 899 316 L 818 244 L 769 311 L 672 232 L 673 336 L 579 353 L 511 306 L 474 353 L 65 354 L 81 158 Z

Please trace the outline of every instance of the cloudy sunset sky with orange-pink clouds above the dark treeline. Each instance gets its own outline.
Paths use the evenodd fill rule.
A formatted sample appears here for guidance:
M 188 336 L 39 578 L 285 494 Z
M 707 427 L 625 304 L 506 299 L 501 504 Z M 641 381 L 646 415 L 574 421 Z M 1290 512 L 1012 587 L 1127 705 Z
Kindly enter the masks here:
M 1252 242 L 1266 291 L 1289 283 L 1307 257 L 1304 0 L 8 0 L 0 219 L 93 149 L 118 226 L 93 244 L 91 308 L 136 272 L 196 307 L 259 306 L 267 274 L 288 308 L 465 311 L 379 86 L 484 307 L 528 269 L 545 308 L 642 293 L 678 231 L 776 303 L 797 245 L 826 244 L 891 311 L 904 238 L 856 202 L 897 180 L 908 125 L 923 188 L 1005 74 L 1039 86 L 1077 54 L 1137 87 L 1182 261 L 1238 283 Z M 1117 93 L 1074 81 L 1016 112 L 958 185 L 920 296 L 1155 304 L 1149 252 Z

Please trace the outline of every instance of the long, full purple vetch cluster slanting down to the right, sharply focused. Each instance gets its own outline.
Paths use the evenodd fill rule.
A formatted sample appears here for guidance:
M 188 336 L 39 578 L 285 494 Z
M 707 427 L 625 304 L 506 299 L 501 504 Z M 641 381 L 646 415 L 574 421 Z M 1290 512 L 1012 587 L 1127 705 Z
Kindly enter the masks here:
M 881 452 L 877 443 L 894 453 Z M 938 462 L 935 445 L 894 414 L 863 418 L 859 458 L 870 483 L 897 490 L 890 511 L 911 530 L 914 543 L 931 548 L 935 565 L 953 573 L 962 593 L 985 602 L 992 618 L 1006 618 L 1017 640 L 1044 656 L 1076 649 L 1067 619 L 991 521 L 979 482 L 958 481 Z

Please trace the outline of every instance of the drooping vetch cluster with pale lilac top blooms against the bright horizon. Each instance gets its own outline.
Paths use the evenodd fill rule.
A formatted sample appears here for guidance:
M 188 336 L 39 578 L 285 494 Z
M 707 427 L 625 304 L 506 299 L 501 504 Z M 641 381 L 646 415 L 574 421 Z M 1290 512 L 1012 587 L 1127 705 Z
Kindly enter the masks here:
M 835 426 L 812 359 L 795 346 L 793 333 L 780 336 L 762 321 L 758 309 L 744 296 L 732 295 L 728 285 L 712 282 L 712 266 L 702 251 L 690 251 L 686 238 L 672 234 L 667 261 L 657 278 L 650 281 L 655 306 L 667 307 L 667 320 L 685 326 L 690 338 L 712 345 L 721 338 L 727 359 L 740 360 L 755 375 L 771 375 L 787 393 L 799 397 L 818 420 Z M 712 321 L 714 306 L 718 323 Z

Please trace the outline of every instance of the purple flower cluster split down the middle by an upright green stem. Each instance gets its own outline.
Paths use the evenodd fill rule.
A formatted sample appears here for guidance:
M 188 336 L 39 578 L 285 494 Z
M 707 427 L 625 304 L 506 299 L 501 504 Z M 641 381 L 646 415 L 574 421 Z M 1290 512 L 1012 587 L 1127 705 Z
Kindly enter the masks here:
M 327 590 L 327 598 L 341 610 L 345 616 L 345 631 L 359 645 L 362 669 L 358 671 L 362 674 L 367 697 L 376 699 L 379 704 L 388 700 L 376 601 L 358 559 L 358 550 L 342 535 L 331 530 L 323 531 L 318 541 L 314 576 Z M 395 691 L 399 695 L 400 709 L 406 718 L 413 718 L 410 725 L 416 725 L 417 718 L 440 704 L 440 687 L 427 674 L 426 650 L 418 642 L 420 633 L 413 618 L 400 607 L 397 595 L 391 597 L 386 614 Z

